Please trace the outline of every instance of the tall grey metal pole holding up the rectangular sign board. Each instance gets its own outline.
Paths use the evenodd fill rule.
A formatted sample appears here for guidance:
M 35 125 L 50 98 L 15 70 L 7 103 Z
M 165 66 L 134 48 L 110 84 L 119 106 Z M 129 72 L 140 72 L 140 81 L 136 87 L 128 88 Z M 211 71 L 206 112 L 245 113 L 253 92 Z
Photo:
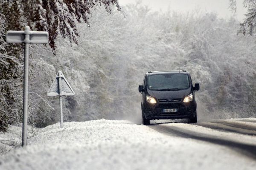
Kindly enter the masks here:
M 28 91 L 29 91 L 29 26 L 25 27 L 25 49 L 24 49 L 24 83 L 23 83 L 23 124 L 22 124 L 22 146 L 27 145 L 28 126 Z

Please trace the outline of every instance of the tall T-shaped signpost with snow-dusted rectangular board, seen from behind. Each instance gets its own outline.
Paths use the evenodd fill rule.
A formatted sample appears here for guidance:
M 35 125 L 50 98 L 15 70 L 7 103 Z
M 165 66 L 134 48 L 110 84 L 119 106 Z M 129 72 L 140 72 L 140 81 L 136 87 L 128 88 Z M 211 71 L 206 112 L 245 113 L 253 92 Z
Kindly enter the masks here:
M 23 86 L 23 125 L 22 146 L 27 144 L 27 119 L 28 119 L 28 79 L 29 79 L 29 44 L 47 44 L 48 32 L 30 31 L 29 26 L 25 31 L 7 31 L 6 42 L 24 43 L 24 86 Z

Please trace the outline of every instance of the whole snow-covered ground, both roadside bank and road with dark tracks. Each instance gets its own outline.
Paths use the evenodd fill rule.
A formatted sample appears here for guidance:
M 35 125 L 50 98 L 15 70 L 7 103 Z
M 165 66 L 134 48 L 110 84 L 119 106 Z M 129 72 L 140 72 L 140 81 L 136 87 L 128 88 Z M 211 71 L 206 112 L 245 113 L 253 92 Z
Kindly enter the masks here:
M 95 120 L 50 125 L 0 170 L 255 170 L 256 119 L 136 125 Z

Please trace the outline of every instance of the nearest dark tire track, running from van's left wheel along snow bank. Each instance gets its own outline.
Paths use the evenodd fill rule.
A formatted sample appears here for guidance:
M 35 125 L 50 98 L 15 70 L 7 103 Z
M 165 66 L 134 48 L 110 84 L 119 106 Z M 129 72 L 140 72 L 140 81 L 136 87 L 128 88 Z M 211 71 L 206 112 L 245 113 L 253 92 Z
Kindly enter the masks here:
M 157 130 L 160 133 L 165 133 L 166 135 L 195 139 L 204 142 L 210 142 L 212 144 L 230 147 L 233 150 L 244 154 L 244 156 L 247 156 L 250 159 L 256 159 L 256 145 L 236 142 L 230 139 L 224 139 L 224 136 L 213 136 L 206 133 L 186 130 L 177 126 L 149 125 L 148 127 Z

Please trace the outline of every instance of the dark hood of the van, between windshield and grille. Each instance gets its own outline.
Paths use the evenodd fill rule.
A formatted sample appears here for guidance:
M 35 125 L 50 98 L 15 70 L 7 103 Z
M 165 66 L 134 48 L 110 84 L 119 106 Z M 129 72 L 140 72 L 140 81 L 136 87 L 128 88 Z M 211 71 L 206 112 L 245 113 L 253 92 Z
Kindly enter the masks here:
M 148 94 L 156 99 L 183 99 L 191 93 L 191 88 L 180 91 L 150 91 Z

